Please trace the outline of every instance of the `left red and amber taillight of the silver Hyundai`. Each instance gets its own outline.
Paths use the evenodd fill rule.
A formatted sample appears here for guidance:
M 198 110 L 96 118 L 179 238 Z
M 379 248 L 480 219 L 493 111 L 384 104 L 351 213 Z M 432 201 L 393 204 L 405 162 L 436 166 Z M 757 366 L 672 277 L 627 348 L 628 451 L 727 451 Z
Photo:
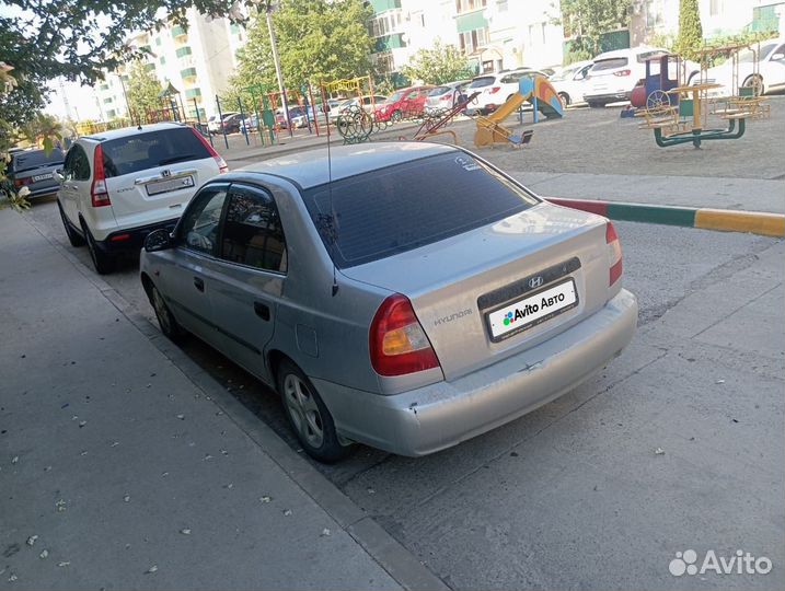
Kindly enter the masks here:
M 412 302 L 401 293 L 377 310 L 369 333 L 371 366 L 380 375 L 404 375 L 439 367 Z

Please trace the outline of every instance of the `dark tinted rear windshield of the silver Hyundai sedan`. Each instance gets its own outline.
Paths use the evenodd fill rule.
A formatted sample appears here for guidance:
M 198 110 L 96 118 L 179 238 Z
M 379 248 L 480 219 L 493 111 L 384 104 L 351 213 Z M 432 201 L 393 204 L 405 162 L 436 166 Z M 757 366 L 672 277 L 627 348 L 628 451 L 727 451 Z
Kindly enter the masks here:
M 538 202 L 465 153 L 440 154 L 308 189 L 311 219 L 340 268 L 405 253 L 519 213 Z M 335 212 L 335 247 L 325 220 Z

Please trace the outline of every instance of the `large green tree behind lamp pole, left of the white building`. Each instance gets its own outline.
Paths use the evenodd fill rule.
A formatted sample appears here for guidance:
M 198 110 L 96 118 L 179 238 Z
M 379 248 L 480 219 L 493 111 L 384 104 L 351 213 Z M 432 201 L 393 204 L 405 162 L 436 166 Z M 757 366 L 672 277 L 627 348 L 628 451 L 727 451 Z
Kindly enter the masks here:
M 288 88 L 307 81 L 366 74 L 373 48 L 368 34 L 372 9 L 362 0 L 280 0 L 273 25 Z M 249 39 L 238 53 L 236 89 L 262 84 L 277 89 L 267 20 L 262 9 L 247 26 Z

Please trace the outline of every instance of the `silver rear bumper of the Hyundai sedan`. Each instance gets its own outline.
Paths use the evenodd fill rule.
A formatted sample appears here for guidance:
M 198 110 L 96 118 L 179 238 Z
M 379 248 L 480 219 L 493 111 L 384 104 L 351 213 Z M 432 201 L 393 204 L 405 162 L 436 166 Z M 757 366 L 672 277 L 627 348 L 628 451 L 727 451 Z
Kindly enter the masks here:
M 622 290 L 556 337 L 451 382 L 382 396 L 312 380 L 345 437 L 401 455 L 426 455 L 530 413 L 573 390 L 626 347 L 637 300 Z

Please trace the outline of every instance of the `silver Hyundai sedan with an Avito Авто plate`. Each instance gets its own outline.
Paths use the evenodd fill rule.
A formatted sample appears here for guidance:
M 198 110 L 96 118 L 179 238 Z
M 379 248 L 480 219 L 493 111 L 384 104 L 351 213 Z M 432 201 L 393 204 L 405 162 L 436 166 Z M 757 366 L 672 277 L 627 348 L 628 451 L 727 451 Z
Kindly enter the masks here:
M 424 142 L 213 178 L 148 236 L 140 273 L 162 332 L 276 389 L 321 461 L 484 433 L 604 367 L 637 322 L 610 221 Z

